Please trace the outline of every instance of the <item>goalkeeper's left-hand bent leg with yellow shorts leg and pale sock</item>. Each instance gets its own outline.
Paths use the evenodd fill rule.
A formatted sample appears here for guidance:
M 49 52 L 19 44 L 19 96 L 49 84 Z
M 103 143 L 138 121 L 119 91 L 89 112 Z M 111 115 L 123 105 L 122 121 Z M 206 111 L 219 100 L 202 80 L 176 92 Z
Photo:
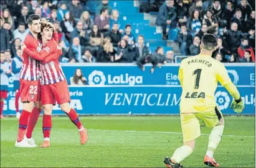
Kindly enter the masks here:
M 188 157 L 195 148 L 196 138 L 201 135 L 200 123 L 194 113 L 181 113 L 181 128 L 183 131 L 183 146 L 176 149 L 171 158 L 166 157 L 166 167 L 182 167 L 180 162 Z

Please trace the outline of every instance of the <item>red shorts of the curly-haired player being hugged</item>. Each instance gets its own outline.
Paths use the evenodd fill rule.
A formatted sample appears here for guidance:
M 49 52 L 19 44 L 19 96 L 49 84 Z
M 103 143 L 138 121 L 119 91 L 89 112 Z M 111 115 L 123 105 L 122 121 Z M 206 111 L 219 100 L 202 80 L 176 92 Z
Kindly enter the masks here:
M 64 104 L 70 102 L 69 87 L 67 80 L 55 84 L 46 84 L 41 86 L 41 103 L 45 104 Z

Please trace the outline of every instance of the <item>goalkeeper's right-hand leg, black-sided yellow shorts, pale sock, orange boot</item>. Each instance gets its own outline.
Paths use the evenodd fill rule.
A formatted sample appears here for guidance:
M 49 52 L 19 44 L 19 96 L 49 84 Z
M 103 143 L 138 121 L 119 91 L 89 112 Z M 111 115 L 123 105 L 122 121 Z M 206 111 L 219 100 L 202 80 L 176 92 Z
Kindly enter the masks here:
M 201 117 L 206 123 L 206 126 L 211 127 L 212 131 L 209 135 L 208 148 L 204 157 L 204 164 L 208 166 L 219 167 L 219 164 L 214 159 L 214 152 L 220 143 L 224 131 L 224 118 L 220 110 L 216 107 L 212 112 L 203 113 Z

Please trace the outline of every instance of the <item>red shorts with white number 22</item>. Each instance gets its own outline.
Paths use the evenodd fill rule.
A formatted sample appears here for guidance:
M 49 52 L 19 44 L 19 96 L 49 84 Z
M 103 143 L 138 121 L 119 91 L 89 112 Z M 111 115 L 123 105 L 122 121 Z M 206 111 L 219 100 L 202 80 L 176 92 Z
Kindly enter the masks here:
M 40 101 L 40 81 L 20 79 L 21 102 Z

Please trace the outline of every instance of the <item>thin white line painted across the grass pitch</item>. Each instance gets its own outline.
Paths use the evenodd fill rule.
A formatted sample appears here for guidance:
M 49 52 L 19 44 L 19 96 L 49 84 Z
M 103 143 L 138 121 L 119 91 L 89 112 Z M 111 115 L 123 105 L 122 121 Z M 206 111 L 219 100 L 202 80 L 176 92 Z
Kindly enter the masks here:
M 88 131 L 112 131 L 112 132 L 125 132 L 125 133 L 159 133 L 159 134 L 176 134 L 182 135 L 183 133 L 177 132 L 166 132 L 166 131 L 135 131 L 135 130 L 95 130 L 88 129 Z M 209 134 L 201 134 L 202 136 L 209 136 Z M 255 136 L 247 136 L 247 135 L 222 135 L 227 137 L 244 137 L 244 138 L 255 138 Z

